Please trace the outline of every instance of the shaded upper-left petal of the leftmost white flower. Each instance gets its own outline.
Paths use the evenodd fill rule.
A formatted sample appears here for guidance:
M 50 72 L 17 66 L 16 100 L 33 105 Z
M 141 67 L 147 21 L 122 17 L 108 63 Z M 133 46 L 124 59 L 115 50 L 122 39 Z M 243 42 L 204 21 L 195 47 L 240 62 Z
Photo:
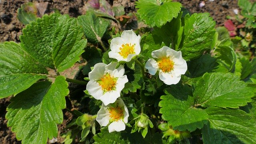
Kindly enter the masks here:
M 95 64 L 93 70 L 89 72 L 89 79 L 95 81 L 100 80 L 104 76 L 106 65 L 104 63 Z

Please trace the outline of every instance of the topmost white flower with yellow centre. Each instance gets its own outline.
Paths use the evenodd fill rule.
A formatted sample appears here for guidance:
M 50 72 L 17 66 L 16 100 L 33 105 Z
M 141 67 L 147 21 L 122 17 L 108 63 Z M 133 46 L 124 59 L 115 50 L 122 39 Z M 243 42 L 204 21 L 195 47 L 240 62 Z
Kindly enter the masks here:
M 134 56 L 140 54 L 140 35 L 132 30 L 124 30 L 121 37 L 113 38 L 110 41 L 108 56 L 120 61 L 129 62 Z

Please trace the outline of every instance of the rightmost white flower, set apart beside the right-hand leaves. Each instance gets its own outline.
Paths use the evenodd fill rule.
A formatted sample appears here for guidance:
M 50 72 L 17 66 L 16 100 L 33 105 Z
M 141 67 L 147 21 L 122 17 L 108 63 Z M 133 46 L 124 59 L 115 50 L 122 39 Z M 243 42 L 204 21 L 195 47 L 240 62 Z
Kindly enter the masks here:
M 151 55 L 153 58 L 146 62 L 145 68 L 152 75 L 159 71 L 159 78 L 165 84 L 177 84 L 180 81 L 180 76 L 185 74 L 188 69 L 181 52 L 167 46 L 154 50 Z

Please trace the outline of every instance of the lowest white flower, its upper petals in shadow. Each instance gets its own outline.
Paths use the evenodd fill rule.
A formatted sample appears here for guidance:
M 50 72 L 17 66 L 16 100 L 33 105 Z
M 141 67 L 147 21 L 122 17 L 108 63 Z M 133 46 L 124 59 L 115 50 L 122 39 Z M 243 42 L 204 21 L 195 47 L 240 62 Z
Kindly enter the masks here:
M 102 107 L 97 113 L 96 120 L 100 126 L 108 126 L 108 132 L 120 132 L 125 130 L 125 123 L 128 122 L 129 112 L 121 98 L 118 98 L 114 104 L 108 104 Z

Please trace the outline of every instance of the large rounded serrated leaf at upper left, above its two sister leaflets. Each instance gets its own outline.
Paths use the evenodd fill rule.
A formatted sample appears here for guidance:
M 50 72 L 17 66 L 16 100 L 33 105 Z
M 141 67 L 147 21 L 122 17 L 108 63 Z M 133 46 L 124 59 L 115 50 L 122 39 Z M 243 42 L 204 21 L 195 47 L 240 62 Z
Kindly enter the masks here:
M 31 22 L 22 30 L 22 48 L 38 62 L 58 72 L 70 68 L 82 54 L 87 41 L 75 18 L 53 13 Z

